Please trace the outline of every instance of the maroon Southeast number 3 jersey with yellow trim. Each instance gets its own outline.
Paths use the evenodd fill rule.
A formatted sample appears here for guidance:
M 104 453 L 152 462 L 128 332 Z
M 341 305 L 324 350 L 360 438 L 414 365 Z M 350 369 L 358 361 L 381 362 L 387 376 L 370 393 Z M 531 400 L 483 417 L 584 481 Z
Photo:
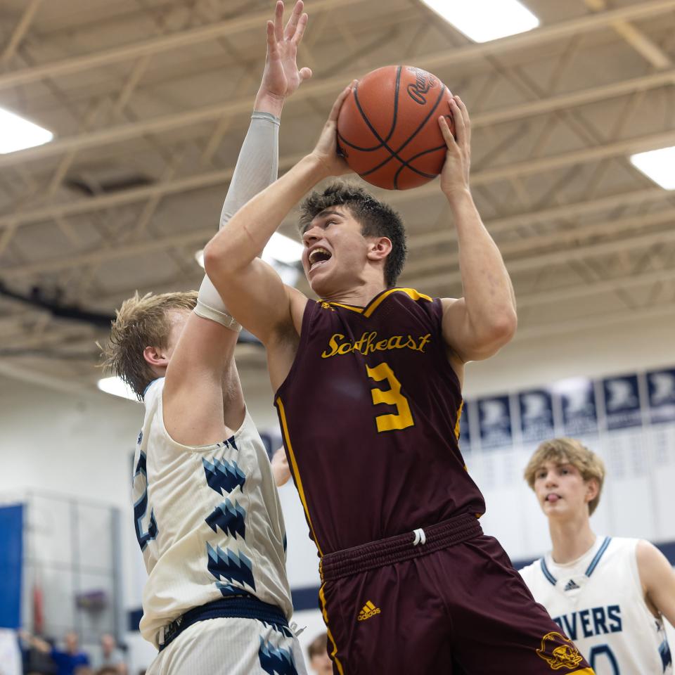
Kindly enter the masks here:
M 276 408 L 319 555 L 484 513 L 458 447 L 462 396 L 441 301 L 307 301 Z

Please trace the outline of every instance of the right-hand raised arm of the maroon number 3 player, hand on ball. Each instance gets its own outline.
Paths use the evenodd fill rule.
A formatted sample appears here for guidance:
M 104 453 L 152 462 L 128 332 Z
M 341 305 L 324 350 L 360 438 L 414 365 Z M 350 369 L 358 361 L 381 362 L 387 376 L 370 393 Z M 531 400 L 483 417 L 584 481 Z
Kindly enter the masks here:
M 463 297 L 444 298 L 443 335 L 461 361 L 487 359 L 515 333 L 515 295 L 506 266 L 480 219 L 469 188 L 471 127 L 458 96 L 451 102 L 456 139 L 445 117 L 439 126 L 448 146 L 441 189 L 454 217 Z

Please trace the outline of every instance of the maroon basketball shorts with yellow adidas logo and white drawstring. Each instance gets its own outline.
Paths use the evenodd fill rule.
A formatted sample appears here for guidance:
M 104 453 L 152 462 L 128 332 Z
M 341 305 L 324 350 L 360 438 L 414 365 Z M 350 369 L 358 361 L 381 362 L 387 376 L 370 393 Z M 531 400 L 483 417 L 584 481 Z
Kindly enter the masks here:
M 330 553 L 321 575 L 335 674 L 593 674 L 471 515 Z

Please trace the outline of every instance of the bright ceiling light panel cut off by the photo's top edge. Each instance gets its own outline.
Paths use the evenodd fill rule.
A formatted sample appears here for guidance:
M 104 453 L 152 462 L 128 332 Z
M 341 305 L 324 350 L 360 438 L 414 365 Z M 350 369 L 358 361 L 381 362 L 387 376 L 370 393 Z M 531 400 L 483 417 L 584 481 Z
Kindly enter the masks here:
M 518 0 L 422 0 L 474 42 L 524 33 L 539 19 Z

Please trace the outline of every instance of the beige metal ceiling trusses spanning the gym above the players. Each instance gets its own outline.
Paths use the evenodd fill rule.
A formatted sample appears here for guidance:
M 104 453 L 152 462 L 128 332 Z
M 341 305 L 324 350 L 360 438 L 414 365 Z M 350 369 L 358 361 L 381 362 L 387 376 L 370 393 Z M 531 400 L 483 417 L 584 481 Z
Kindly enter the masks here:
M 521 322 L 518 340 L 626 320 L 626 311 L 608 311 L 607 314 L 596 312 L 593 316 L 572 316 L 565 321 L 537 322 L 539 317 L 533 310 L 544 304 L 613 294 L 626 307 L 638 307 L 631 309 L 631 316 L 646 320 L 671 311 L 674 295 L 675 233 L 668 227 L 675 219 L 673 195 L 660 188 L 647 186 L 647 181 L 629 165 L 626 155 L 674 145 L 675 128 L 664 124 L 668 128 L 659 131 L 646 129 L 632 138 L 624 136 L 628 134 L 631 116 L 647 97 L 660 96 L 663 92 L 672 96 L 675 91 L 674 60 L 668 53 L 667 45 L 657 44 L 634 23 L 670 13 L 675 9 L 675 0 L 636 2 L 610 10 L 605 0 L 581 2 L 592 13 L 484 44 L 464 44 L 463 39 L 453 37 L 453 30 L 442 26 L 444 34 L 448 34 L 451 41 L 456 39 L 458 46 L 427 55 L 418 53 L 422 42 L 420 35 L 426 35 L 426 31 L 432 29 L 441 30 L 441 27 L 428 22 L 428 15 L 420 15 L 419 8 L 383 16 L 383 21 L 378 24 L 378 30 L 383 33 L 370 41 L 365 39 L 365 34 L 363 37 L 361 34 L 357 36 L 357 27 L 350 25 L 347 16 L 347 20 L 340 21 L 338 30 L 332 32 L 330 37 L 332 41 L 335 41 L 336 36 L 342 40 L 347 58 L 338 60 L 330 68 L 324 63 L 323 79 L 317 78 L 304 84 L 287 104 L 291 110 L 309 111 L 307 114 L 315 115 L 317 121 L 323 119 L 326 113 L 323 110 L 325 98 L 333 96 L 344 86 L 354 75 L 354 67 L 366 70 L 375 65 L 368 55 L 383 43 L 383 34 L 388 35 L 391 41 L 394 41 L 392 36 L 396 35 L 398 58 L 412 59 L 416 65 L 428 70 L 482 62 L 487 77 L 473 101 L 472 123 L 474 129 L 482 130 L 484 143 L 481 146 L 482 155 L 475 161 L 472 185 L 477 195 L 499 214 L 487 220 L 487 227 L 498 241 L 515 283 L 522 284 L 518 300 L 525 321 Z M 0 51 L 0 66 L 18 63 L 18 60 L 28 61 L 21 48 L 22 41 L 30 35 L 30 26 L 40 5 L 41 0 L 30 0 L 25 4 L 23 14 Z M 320 38 L 335 23 L 333 12 L 340 10 L 344 13 L 348 7 L 356 10 L 359 5 L 365 7 L 366 1 L 312 2 L 314 32 L 308 34 L 302 45 L 303 64 L 322 72 Z M 13 260 L 13 264 L 4 265 L 1 271 L 0 276 L 4 280 L 24 285 L 34 280 L 46 281 L 55 288 L 68 288 L 68 297 L 75 298 L 77 302 L 86 303 L 94 299 L 100 302 L 105 298 L 117 297 L 124 291 L 103 288 L 98 280 L 103 264 L 162 252 L 169 254 L 172 269 L 165 268 L 162 279 L 156 283 L 161 285 L 169 283 L 169 280 L 175 283 L 181 278 L 193 281 L 199 276 L 200 271 L 193 262 L 193 250 L 212 236 L 217 214 L 214 214 L 211 226 L 179 234 L 163 232 L 155 216 L 162 200 L 172 195 L 216 187 L 224 195 L 224 186 L 229 184 L 233 167 L 208 167 L 213 166 L 215 153 L 233 120 L 250 110 L 251 97 L 243 96 L 224 103 L 201 105 L 191 110 L 141 119 L 131 112 L 130 104 L 139 92 L 143 96 L 154 95 L 145 86 L 144 78 L 148 75 L 153 57 L 160 53 L 214 41 L 227 53 L 234 55 L 233 58 L 242 61 L 230 40 L 247 31 L 258 30 L 269 17 L 269 10 L 245 12 L 236 18 L 214 21 L 213 17 L 206 16 L 204 8 L 195 3 L 186 16 L 181 15 L 183 27 L 179 30 L 174 27 L 173 32 L 169 32 L 172 29 L 162 9 L 146 9 L 162 33 L 157 37 L 95 53 L 65 56 L 52 63 L 28 63 L 26 67 L 0 74 L 0 90 L 46 84 L 59 105 L 63 105 L 75 120 L 75 131 L 69 136 L 37 148 L 0 155 L 0 167 L 11 170 L 12 179 L 4 181 L 3 187 L 13 202 L 11 210 L 0 215 L 0 255 L 4 253 L 7 256 L 11 251 Z M 200 13 L 200 20 L 207 21 L 207 24 L 191 27 L 195 13 Z M 213 11 L 211 13 L 214 14 Z M 409 39 L 405 41 L 399 39 L 397 33 L 404 15 L 409 16 L 409 24 L 406 25 L 413 32 L 412 36 L 408 34 Z M 423 20 L 414 23 L 414 19 L 420 16 Z M 581 37 L 608 28 L 626 43 L 626 49 L 639 54 L 645 65 L 653 70 L 645 75 L 627 77 L 600 86 L 558 92 L 560 82 L 579 52 Z M 359 27 L 358 30 L 365 31 L 366 28 Z M 560 43 L 560 49 L 555 52 L 557 56 L 544 85 L 534 82 L 520 65 L 507 67 L 502 62 L 503 58 L 515 52 L 527 53 L 529 49 L 554 43 Z M 115 69 L 105 70 L 110 65 L 124 63 L 128 63 L 128 68 L 125 67 L 126 75 L 121 81 L 115 80 Z M 243 60 L 242 63 L 246 65 L 248 62 Z M 88 100 L 75 104 L 70 93 L 57 84 L 59 77 L 96 69 L 103 69 L 101 86 L 110 89 L 114 83 L 114 90 L 92 94 Z M 457 69 L 458 72 L 460 70 Z M 490 73 L 493 75 L 490 76 Z M 248 88 L 256 75 L 255 69 L 244 67 L 240 86 Z M 484 110 L 484 102 L 496 86 L 498 77 L 506 78 L 515 91 L 529 100 Z M 461 89 L 459 83 L 454 84 Z M 617 100 L 623 106 L 622 114 L 610 128 L 596 129 L 584 115 L 584 106 L 612 100 Z M 162 107 L 171 110 L 175 105 L 158 106 Z M 293 113 L 286 113 L 289 114 Z M 538 117 L 542 119 L 537 120 Z M 514 122 L 520 124 L 513 127 L 510 135 L 504 133 L 505 129 L 500 129 L 500 125 L 513 125 Z M 536 134 L 535 123 L 539 125 Z M 560 124 L 565 125 L 579 139 L 581 148 L 547 153 Z M 194 129 L 191 138 L 178 143 L 167 142 L 167 132 L 188 127 Z M 530 133 L 532 147 L 527 159 L 499 159 L 507 156 L 523 134 Z M 91 198 L 60 200 L 63 179 L 78 162 L 84 161 L 80 153 L 98 149 L 104 149 L 105 152 L 112 150 L 114 153 L 117 144 L 136 139 L 142 139 L 146 147 L 159 153 L 165 167 L 154 184 L 99 193 Z M 298 152 L 281 158 L 280 169 L 288 169 L 302 155 L 304 153 Z M 189 167 L 186 158 L 191 158 Z M 601 194 L 603 179 L 616 162 L 626 169 L 627 176 L 634 177 L 634 185 L 638 189 Z M 200 170 L 199 167 L 208 170 L 194 173 L 195 167 L 198 167 L 197 170 Z M 577 195 L 572 203 L 556 203 L 558 195 L 563 193 L 565 186 L 574 180 L 583 167 L 592 167 L 593 175 L 581 197 Z M 550 175 L 550 184 L 533 196 L 528 190 L 527 180 L 543 175 Z M 641 187 L 643 185 L 645 187 Z M 498 195 L 505 186 L 513 191 L 514 203 L 520 202 L 520 212 L 508 214 L 506 211 L 507 215 L 504 215 L 505 210 Z M 404 206 L 433 196 L 439 196 L 436 184 L 413 191 L 387 193 L 385 200 L 394 206 Z M 439 199 L 438 206 L 442 205 Z M 120 217 L 122 212 L 119 208 L 128 206 L 132 209 Z M 653 207 L 660 210 L 653 210 Z M 625 210 L 638 213 L 624 213 Z M 77 227 L 70 220 L 83 214 L 89 214 L 91 227 L 101 239 L 96 248 L 92 249 L 91 245 L 84 243 Z M 409 249 L 412 259 L 406 266 L 406 283 L 425 289 L 442 289 L 444 292 L 461 283 L 458 255 L 452 248 L 456 235 L 451 224 L 444 226 L 447 217 L 447 210 L 442 207 L 432 231 L 411 234 Z M 283 227 L 290 226 L 292 220 L 289 217 Z M 36 228 L 56 226 L 68 241 L 72 252 L 45 260 L 22 259 L 18 250 L 14 255 L 15 233 L 31 225 Z M 444 246 L 449 250 L 442 252 Z M 432 248 L 435 251 L 430 250 Z M 564 271 L 560 278 L 556 278 L 555 271 L 558 270 Z M 582 283 L 578 283 L 579 279 Z M 636 300 L 638 293 L 641 298 L 639 303 Z M 8 346 L 20 345 L 31 349 L 71 345 L 76 351 L 82 349 L 86 358 L 87 354 L 91 354 L 91 344 L 96 335 L 97 331 L 89 326 L 53 321 L 49 314 L 32 309 L 15 310 L 10 307 L 10 311 L 0 316 L 0 336 L 4 345 Z M 73 364 L 72 368 L 75 367 Z M 18 376 L 12 368 L 9 364 L 0 363 L 0 373 Z M 70 387 L 61 386 L 60 378 L 53 378 L 49 373 L 43 376 L 29 372 L 27 378 L 70 391 Z

